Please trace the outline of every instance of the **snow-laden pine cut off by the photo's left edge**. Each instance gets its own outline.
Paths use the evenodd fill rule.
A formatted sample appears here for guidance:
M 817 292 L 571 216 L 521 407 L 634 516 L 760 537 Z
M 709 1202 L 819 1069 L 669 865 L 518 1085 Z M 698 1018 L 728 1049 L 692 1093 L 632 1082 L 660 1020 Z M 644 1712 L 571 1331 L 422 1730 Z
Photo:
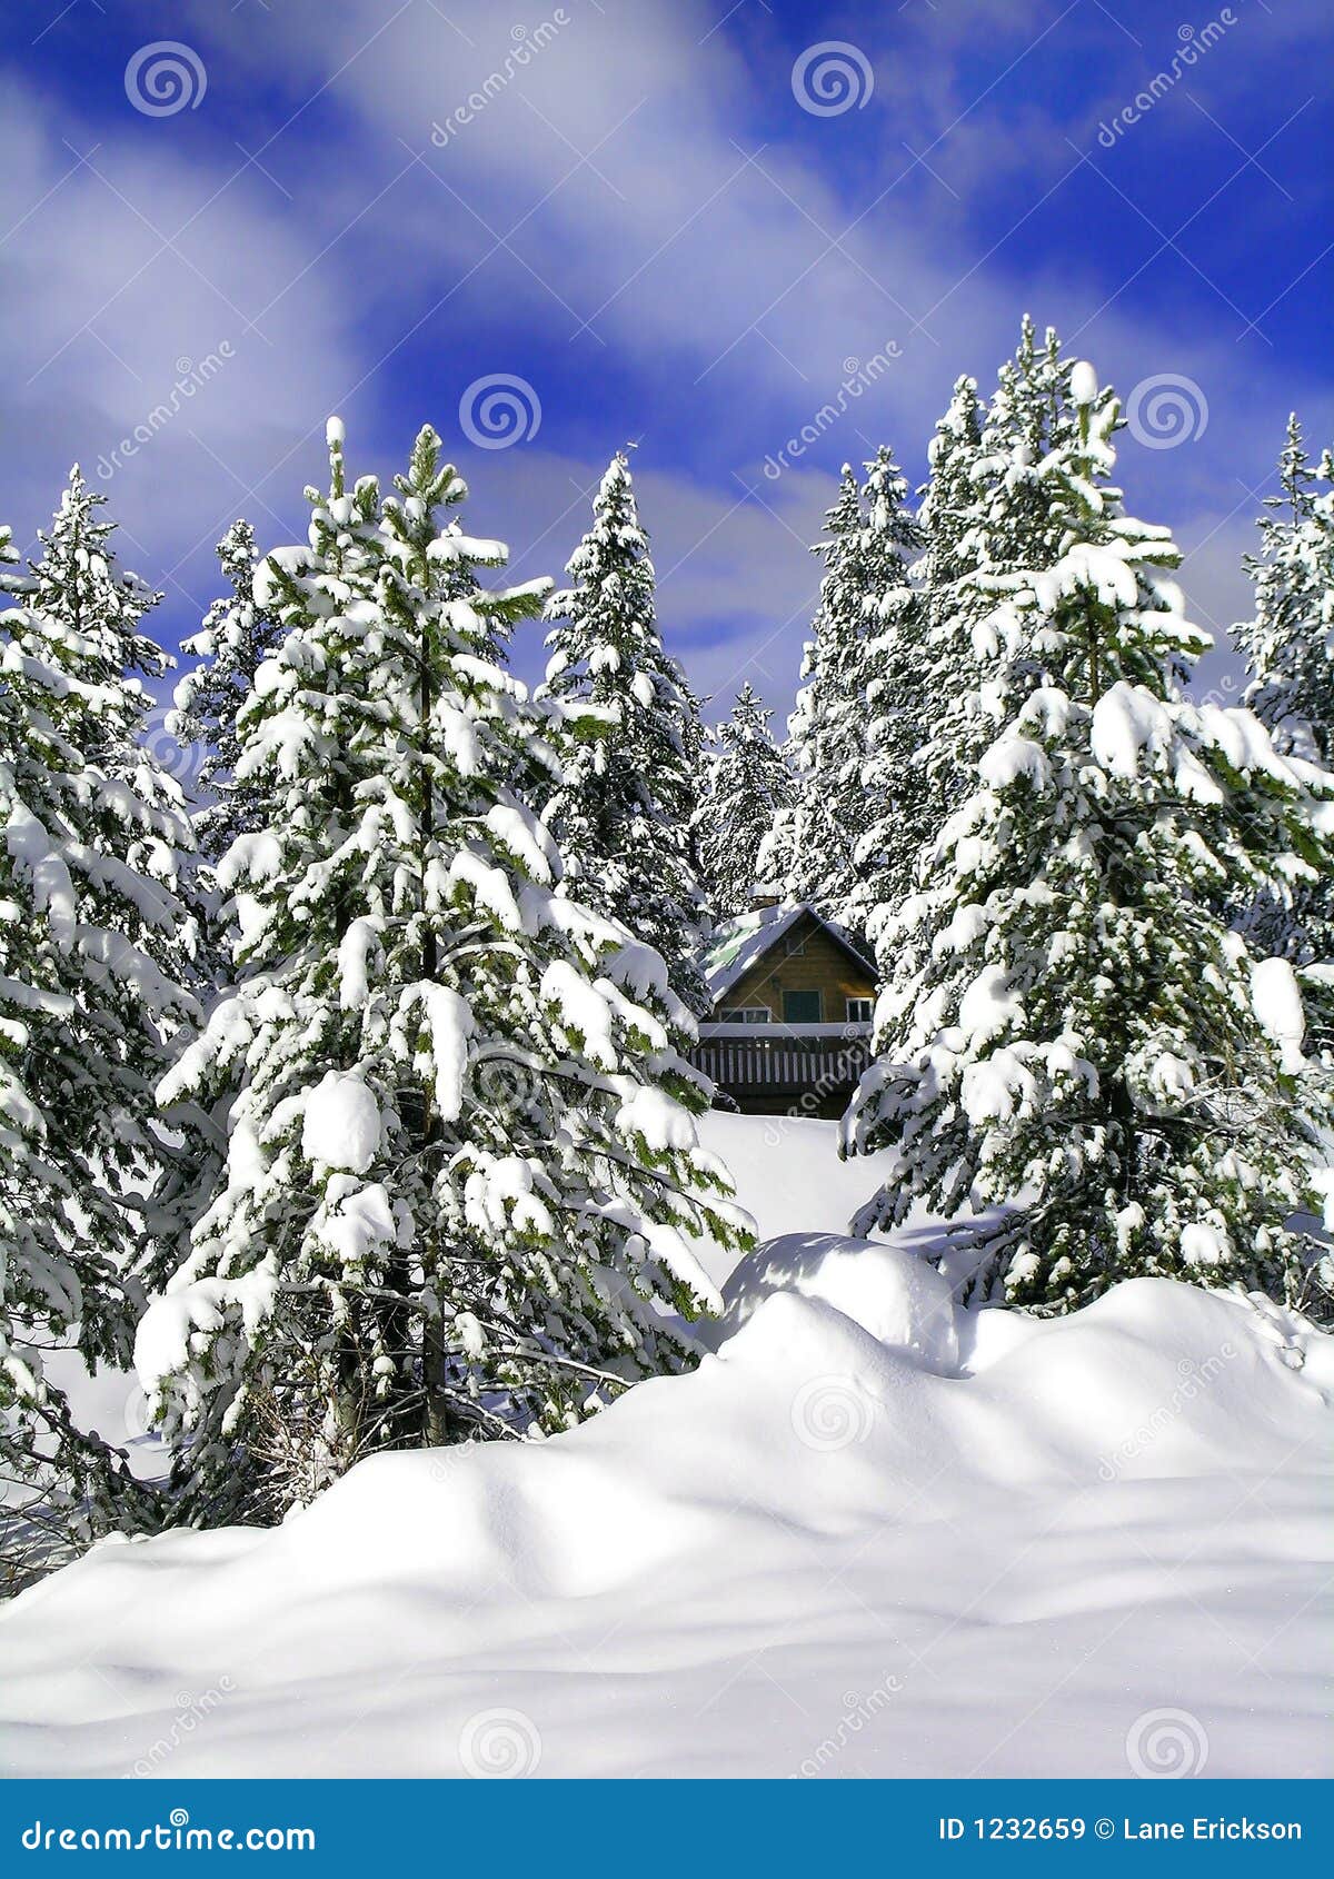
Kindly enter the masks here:
M 0 579 L 19 599 L 0 613 L 0 1452 L 64 1541 L 147 1518 L 41 1353 L 130 1360 L 175 1154 L 154 1088 L 195 1018 L 190 821 L 135 750 L 141 675 L 165 661 L 100 502 L 75 470 L 32 575 Z

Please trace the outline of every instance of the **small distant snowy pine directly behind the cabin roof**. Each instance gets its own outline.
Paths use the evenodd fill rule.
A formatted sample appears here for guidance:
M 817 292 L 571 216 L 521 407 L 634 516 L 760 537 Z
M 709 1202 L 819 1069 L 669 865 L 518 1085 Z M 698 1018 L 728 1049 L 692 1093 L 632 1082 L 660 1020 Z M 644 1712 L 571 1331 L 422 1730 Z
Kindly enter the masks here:
M 746 680 L 712 738 L 695 846 L 708 904 L 720 919 L 750 908 L 759 851 L 793 800 L 791 770 L 768 729 L 772 716 Z

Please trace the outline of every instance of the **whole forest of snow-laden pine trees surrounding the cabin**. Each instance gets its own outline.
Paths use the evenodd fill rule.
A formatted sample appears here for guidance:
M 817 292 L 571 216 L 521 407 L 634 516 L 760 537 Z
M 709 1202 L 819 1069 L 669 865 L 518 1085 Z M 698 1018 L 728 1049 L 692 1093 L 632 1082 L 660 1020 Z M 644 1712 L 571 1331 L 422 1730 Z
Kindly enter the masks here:
M 979 1302 L 1325 1313 L 1334 460 L 1291 421 L 1227 708 L 1120 423 L 1024 321 L 917 500 L 887 447 L 845 466 L 783 744 L 750 682 L 703 723 L 624 455 L 552 592 L 500 584 L 434 430 L 383 489 L 331 421 L 306 539 L 218 547 L 190 799 L 103 498 L 75 468 L 26 567 L 0 530 L 6 1546 L 276 1520 L 693 1364 L 701 1250 L 750 1244 L 695 1129 L 701 956 L 757 889 L 876 951 L 855 1231 L 975 1216 Z M 137 1360 L 171 1479 L 79 1426 L 66 1347 Z

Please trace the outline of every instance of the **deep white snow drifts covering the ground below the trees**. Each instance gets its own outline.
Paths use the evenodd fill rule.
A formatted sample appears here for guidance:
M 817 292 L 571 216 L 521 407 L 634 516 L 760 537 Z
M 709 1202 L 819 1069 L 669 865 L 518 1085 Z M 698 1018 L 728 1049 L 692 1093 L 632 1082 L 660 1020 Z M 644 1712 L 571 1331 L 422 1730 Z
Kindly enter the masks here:
M 4 1768 L 1334 1772 L 1334 1340 L 1161 1280 L 956 1312 L 815 1231 L 866 1186 L 832 1126 L 708 1127 L 789 1233 L 718 1355 L 276 1531 L 98 1548 L 0 1616 Z

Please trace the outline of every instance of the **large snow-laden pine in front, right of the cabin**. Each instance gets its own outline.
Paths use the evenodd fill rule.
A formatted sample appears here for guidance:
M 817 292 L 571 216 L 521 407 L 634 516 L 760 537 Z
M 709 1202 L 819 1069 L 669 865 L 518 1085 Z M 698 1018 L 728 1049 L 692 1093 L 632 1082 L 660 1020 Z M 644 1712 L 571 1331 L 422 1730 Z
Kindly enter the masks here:
M 971 1285 L 1041 1312 L 1135 1274 L 1306 1298 L 1289 1221 L 1317 1203 L 1328 1080 L 1289 964 L 1248 951 L 1219 889 L 1328 866 L 1330 780 L 1182 699 L 1206 641 L 1178 551 L 1103 483 L 1114 396 L 1063 376 L 1075 434 L 1024 475 L 1030 539 L 1060 554 L 988 581 L 973 793 L 881 941 L 900 970 L 844 1146 L 892 1159 L 857 1227 L 996 1204 Z

